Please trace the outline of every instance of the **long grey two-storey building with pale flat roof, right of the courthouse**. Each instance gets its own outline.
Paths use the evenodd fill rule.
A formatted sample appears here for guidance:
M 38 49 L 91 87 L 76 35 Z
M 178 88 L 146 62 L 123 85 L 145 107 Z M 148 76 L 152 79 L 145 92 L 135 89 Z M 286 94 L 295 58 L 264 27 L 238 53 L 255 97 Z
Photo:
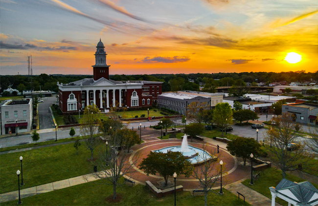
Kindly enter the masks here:
M 210 109 L 211 98 L 193 94 L 163 93 L 158 95 L 158 107 L 177 111 L 180 114 L 186 114 L 188 106 L 193 103 L 199 103 L 201 107 Z

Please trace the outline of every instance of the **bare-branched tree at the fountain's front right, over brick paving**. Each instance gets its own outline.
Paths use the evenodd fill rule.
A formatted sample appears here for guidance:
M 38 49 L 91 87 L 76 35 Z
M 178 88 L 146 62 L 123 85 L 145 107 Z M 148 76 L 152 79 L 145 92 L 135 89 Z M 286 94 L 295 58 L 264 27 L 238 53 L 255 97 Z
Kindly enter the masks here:
M 206 151 L 207 144 L 203 145 L 203 149 Z M 215 154 L 216 152 L 214 152 Z M 198 159 L 204 161 L 203 165 L 196 166 L 193 168 L 192 176 L 199 180 L 199 184 L 204 191 L 204 206 L 207 205 L 207 193 L 212 189 L 215 183 L 220 181 L 221 177 L 221 167 L 215 158 L 219 156 L 214 156 L 211 158 L 207 153 L 200 154 Z M 226 172 L 225 168 L 222 168 L 222 174 Z

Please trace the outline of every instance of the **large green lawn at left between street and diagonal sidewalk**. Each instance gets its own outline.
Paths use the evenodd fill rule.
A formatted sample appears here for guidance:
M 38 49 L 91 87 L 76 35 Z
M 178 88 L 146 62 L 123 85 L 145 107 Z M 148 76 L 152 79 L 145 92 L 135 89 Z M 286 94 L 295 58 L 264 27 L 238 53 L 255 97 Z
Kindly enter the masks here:
M 97 154 L 97 149 L 94 150 Z M 33 149 L 1 155 L 0 193 L 17 190 L 17 170 L 21 169 L 20 156 L 23 156 L 22 188 L 43 185 L 64 180 L 93 171 L 91 152 L 84 143 L 79 148 L 79 154 L 73 144 Z

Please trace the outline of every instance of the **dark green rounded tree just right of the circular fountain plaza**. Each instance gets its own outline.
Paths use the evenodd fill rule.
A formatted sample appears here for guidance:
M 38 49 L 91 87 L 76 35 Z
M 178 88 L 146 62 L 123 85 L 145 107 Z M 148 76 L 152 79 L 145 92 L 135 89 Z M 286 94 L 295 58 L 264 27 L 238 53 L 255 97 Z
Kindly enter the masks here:
M 254 138 L 237 137 L 227 144 L 227 150 L 231 155 L 243 158 L 244 166 L 246 159 L 253 153 L 255 157 L 260 154 L 261 145 Z

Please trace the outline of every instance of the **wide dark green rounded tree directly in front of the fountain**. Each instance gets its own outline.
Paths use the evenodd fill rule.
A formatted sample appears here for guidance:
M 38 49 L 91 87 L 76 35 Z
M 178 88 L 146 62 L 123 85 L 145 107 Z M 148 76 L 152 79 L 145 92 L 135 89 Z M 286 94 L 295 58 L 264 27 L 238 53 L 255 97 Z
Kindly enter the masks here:
M 175 172 L 177 175 L 190 177 L 192 168 L 191 163 L 181 152 L 173 151 L 168 151 L 167 153 L 151 151 L 139 165 L 139 169 L 143 169 L 147 175 L 159 173 L 164 178 L 165 185 L 168 185 L 168 177 Z

